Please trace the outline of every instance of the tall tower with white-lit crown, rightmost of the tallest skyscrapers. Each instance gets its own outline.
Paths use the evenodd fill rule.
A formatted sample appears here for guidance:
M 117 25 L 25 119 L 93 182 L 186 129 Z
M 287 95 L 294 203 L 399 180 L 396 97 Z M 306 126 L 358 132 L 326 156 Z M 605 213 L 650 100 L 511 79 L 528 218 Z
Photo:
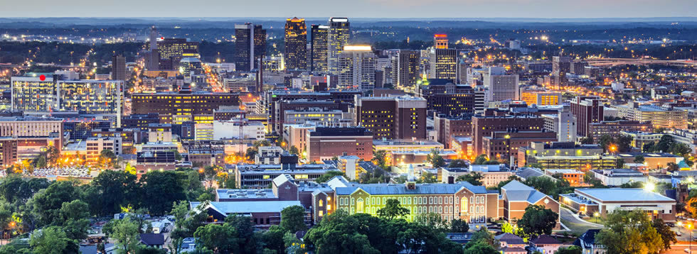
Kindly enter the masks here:
M 351 40 L 349 18 L 329 18 L 329 31 L 326 36 L 326 62 L 329 73 L 339 74 L 339 54 Z

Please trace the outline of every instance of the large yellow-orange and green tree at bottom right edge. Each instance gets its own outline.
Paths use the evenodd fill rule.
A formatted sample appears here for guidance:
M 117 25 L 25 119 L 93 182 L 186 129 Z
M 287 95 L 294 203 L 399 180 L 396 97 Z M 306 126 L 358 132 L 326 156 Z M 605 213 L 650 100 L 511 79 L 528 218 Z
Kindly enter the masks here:
M 616 209 L 607 214 L 605 228 L 595 235 L 607 253 L 659 253 L 664 241 L 644 211 Z

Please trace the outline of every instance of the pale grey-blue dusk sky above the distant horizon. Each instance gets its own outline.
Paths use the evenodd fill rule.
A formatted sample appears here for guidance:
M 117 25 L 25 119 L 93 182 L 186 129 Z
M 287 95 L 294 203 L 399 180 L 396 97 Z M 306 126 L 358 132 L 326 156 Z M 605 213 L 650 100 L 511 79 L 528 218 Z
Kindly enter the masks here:
M 697 0 L 0 0 L 0 17 L 642 18 Z

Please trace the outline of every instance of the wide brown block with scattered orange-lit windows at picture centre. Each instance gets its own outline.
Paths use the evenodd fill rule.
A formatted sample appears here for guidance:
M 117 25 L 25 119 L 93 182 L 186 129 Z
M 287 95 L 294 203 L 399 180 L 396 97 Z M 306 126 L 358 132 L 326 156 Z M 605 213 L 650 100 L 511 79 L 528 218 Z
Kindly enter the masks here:
M 357 96 L 356 125 L 366 127 L 376 139 L 425 139 L 426 100 L 413 96 Z

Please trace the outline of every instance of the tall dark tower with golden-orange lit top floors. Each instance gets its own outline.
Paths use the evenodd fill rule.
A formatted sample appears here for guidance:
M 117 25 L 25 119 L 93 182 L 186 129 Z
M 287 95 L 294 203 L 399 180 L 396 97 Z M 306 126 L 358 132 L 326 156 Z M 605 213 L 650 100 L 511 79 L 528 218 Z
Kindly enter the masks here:
M 285 27 L 285 66 L 288 70 L 307 69 L 307 26 L 304 18 L 288 18 Z

